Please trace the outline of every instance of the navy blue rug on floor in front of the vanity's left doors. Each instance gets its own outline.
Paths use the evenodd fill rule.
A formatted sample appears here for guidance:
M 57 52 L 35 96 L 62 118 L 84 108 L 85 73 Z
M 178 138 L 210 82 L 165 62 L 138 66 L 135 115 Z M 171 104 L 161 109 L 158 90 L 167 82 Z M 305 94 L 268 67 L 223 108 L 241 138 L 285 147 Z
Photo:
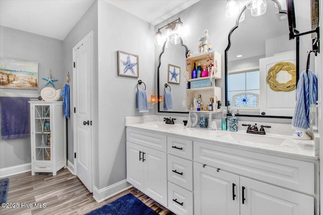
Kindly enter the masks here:
M 117 200 L 92 210 L 90 215 L 158 215 L 153 209 L 145 205 L 131 193 Z

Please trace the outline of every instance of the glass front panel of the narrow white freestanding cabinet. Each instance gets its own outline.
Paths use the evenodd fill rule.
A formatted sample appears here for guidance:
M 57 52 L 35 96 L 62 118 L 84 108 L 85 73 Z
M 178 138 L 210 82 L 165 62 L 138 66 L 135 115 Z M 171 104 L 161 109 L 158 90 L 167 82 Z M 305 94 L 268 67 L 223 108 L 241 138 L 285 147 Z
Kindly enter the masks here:
M 50 106 L 35 105 L 35 161 L 50 161 Z

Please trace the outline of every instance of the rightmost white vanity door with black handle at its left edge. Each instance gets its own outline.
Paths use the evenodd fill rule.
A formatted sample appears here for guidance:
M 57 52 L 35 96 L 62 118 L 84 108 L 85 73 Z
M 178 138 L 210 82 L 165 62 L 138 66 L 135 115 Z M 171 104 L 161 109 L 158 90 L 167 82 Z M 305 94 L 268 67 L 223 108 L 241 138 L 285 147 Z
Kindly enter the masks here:
M 240 177 L 240 185 L 241 215 L 314 214 L 312 196 L 244 177 Z M 242 202 L 243 197 L 244 202 Z

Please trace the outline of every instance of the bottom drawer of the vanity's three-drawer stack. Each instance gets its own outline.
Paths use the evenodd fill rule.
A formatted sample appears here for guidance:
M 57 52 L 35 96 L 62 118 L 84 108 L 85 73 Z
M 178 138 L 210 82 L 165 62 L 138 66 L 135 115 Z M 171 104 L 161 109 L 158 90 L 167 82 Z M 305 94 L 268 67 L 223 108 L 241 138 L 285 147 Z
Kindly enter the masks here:
M 178 215 L 193 214 L 193 193 L 168 182 L 168 208 Z

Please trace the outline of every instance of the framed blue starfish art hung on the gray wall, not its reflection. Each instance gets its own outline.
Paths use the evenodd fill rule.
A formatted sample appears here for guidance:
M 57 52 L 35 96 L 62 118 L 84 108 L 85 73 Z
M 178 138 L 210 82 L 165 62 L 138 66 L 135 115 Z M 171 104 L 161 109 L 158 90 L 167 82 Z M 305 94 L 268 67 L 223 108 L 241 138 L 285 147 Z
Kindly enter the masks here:
M 124 51 L 118 51 L 118 75 L 138 78 L 139 57 Z

